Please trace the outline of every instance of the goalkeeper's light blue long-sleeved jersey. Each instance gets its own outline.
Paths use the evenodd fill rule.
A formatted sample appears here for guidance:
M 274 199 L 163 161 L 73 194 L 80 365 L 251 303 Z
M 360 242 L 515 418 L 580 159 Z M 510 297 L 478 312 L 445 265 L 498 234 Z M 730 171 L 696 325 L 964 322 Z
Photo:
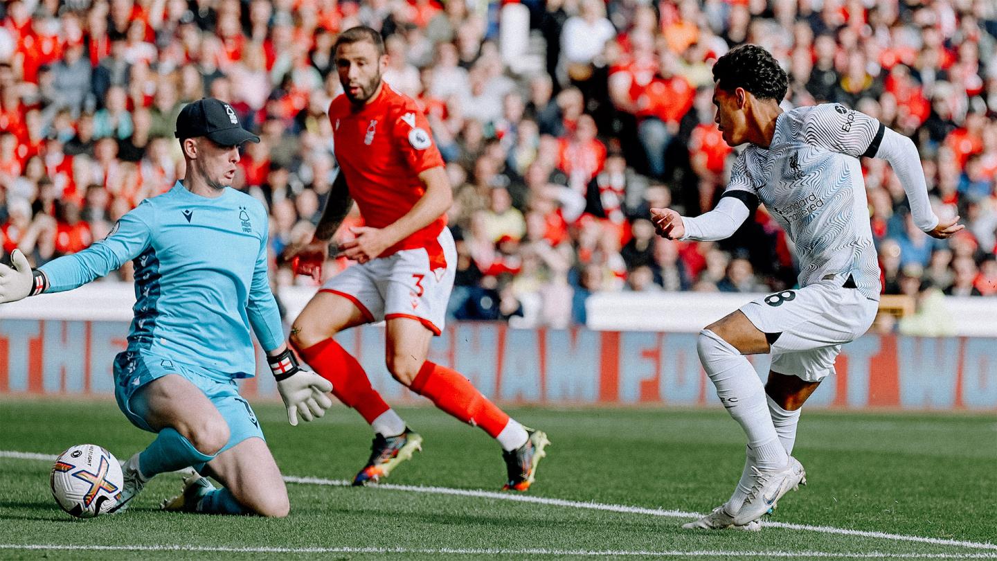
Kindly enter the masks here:
M 176 182 L 128 213 L 104 240 L 43 265 L 47 291 L 76 288 L 135 263 L 129 350 L 201 366 L 219 377 L 255 371 L 250 325 L 265 350 L 283 342 L 267 278 L 268 217 L 248 195 L 194 195 Z

